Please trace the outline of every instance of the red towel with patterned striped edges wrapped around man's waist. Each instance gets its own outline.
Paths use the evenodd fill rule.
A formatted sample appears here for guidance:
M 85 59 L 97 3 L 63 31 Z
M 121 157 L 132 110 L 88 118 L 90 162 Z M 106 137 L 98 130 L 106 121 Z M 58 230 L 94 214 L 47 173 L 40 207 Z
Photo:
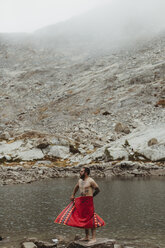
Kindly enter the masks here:
M 104 220 L 94 212 L 93 196 L 75 198 L 54 222 L 81 228 L 96 228 L 105 225 Z

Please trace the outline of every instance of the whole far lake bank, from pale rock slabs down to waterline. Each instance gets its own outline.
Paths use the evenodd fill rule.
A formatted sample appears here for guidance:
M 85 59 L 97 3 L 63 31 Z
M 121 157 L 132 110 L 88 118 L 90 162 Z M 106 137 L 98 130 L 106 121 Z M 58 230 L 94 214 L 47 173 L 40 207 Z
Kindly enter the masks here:
M 99 146 L 36 131 L 8 137 L 0 142 L 0 185 L 77 177 L 85 165 L 93 177 L 165 176 L 163 125 L 116 135 Z

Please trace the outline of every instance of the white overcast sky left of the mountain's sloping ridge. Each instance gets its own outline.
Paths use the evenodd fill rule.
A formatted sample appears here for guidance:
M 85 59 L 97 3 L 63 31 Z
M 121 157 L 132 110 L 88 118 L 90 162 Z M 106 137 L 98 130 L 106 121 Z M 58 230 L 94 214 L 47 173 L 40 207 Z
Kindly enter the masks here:
M 0 0 L 0 32 L 33 32 L 111 0 Z

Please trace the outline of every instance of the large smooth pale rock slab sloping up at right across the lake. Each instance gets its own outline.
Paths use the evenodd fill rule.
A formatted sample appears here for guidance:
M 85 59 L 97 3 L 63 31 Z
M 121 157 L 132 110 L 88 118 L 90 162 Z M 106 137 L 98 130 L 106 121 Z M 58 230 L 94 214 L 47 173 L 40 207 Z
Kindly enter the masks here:
M 157 143 L 148 146 L 148 141 L 154 139 Z M 147 126 L 142 130 L 135 130 L 131 134 L 115 141 L 105 147 L 105 159 L 111 160 L 141 160 L 165 161 L 165 128 L 160 126 Z

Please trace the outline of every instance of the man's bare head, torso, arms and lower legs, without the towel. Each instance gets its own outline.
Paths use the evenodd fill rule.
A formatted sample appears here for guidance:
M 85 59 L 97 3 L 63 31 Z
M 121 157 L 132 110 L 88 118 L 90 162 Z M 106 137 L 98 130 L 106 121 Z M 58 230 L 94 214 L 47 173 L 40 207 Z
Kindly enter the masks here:
M 78 180 L 78 183 L 74 187 L 73 194 L 71 196 L 71 200 L 73 201 L 75 198 L 75 194 L 78 190 L 80 190 L 81 196 L 96 196 L 100 189 L 97 185 L 97 183 L 89 177 L 90 169 L 87 167 L 83 167 L 80 170 L 80 179 Z M 96 241 L 96 228 L 91 229 L 92 232 L 92 239 L 89 241 L 89 229 L 85 229 L 85 238 L 82 240 L 89 241 L 90 244 L 94 243 Z

